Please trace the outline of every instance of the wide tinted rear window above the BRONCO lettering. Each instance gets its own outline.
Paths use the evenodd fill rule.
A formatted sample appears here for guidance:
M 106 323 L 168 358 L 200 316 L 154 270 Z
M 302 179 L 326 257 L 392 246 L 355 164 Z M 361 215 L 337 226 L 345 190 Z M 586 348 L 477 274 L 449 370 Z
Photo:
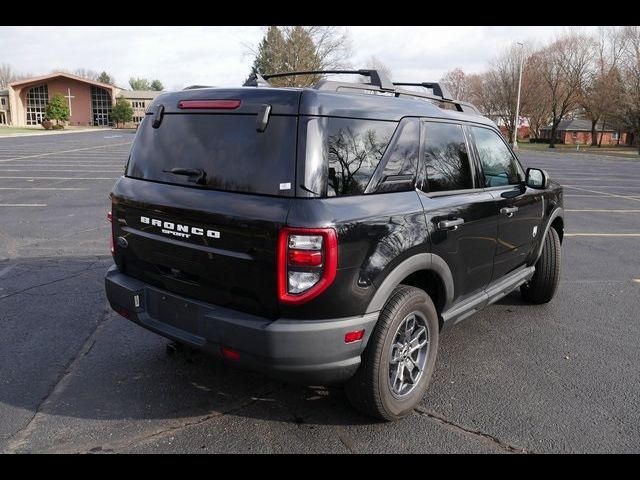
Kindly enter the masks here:
M 272 115 L 265 132 L 255 115 L 165 114 L 147 117 L 131 150 L 127 176 L 230 192 L 293 196 L 297 117 Z M 172 169 L 202 171 L 177 175 Z

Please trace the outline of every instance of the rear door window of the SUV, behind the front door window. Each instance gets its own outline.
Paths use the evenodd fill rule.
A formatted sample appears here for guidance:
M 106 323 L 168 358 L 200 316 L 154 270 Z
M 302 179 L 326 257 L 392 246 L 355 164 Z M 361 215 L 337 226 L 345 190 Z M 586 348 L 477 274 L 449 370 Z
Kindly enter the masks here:
M 425 123 L 424 168 L 428 192 L 473 188 L 467 143 L 462 126 Z

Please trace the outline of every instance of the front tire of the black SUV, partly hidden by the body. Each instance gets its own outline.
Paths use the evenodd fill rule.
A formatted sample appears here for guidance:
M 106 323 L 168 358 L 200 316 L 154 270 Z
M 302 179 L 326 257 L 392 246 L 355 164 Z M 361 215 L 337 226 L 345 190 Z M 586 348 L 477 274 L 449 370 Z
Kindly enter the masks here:
M 542 255 L 536 263 L 533 277 L 520 287 L 520 293 L 525 301 L 537 305 L 551 301 L 560 281 L 560 261 L 560 238 L 558 232 L 552 227 L 544 239 Z

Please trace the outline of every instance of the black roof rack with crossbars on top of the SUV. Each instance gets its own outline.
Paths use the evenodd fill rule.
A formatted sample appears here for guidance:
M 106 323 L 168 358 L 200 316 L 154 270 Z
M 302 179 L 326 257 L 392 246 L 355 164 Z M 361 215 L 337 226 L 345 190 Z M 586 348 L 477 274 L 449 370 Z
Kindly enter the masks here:
M 299 72 L 285 72 L 285 73 L 272 73 L 272 74 L 260 74 L 254 73 L 244 83 L 245 87 L 269 87 L 271 84 L 268 82 L 270 78 L 280 77 L 293 77 L 299 75 L 362 75 L 369 77 L 371 83 L 353 83 L 353 82 L 338 82 L 333 80 L 321 80 L 316 83 L 312 88 L 317 90 L 366 90 L 372 93 L 380 92 L 384 94 L 393 94 L 395 97 L 414 97 L 424 100 L 436 101 L 453 105 L 459 112 L 472 111 L 480 115 L 480 111 L 475 105 L 460 100 L 454 100 L 444 85 L 437 82 L 391 82 L 389 78 L 379 70 L 305 70 Z M 398 87 L 424 87 L 431 89 L 433 94 L 417 92 L 414 90 L 406 90 Z

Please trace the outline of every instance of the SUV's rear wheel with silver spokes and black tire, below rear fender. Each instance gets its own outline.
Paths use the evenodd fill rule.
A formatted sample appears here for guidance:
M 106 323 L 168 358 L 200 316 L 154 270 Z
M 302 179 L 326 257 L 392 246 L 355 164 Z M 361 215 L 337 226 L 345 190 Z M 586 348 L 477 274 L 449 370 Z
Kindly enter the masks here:
M 412 315 L 415 328 L 409 349 L 418 347 L 425 340 L 426 343 L 409 354 L 405 335 L 411 326 Z M 399 333 L 400 327 L 402 333 Z M 421 327 L 425 329 L 424 335 L 420 333 Z M 397 341 L 399 338 L 403 340 Z M 422 400 L 431 381 L 438 353 L 438 338 L 438 314 L 429 295 L 418 288 L 400 285 L 380 312 L 369 344 L 362 354 L 360 367 L 346 385 L 350 403 L 362 413 L 381 420 L 398 420 L 409 415 Z M 405 346 L 401 349 L 398 345 Z M 411 355 L 413 364 L 407 354 Z M 402 375 L 397 373 L 403 361 L 394 364 L 393 357 L 405 358 L 406 366 L 402 367 Z M 414 366 L 419 364 L 422 368 Z M 404 378 L 405 375 L 407 383 L 401 387 L 403 380 L 400 377 Z M 397 390 L 395 393 L 394 388 Z

